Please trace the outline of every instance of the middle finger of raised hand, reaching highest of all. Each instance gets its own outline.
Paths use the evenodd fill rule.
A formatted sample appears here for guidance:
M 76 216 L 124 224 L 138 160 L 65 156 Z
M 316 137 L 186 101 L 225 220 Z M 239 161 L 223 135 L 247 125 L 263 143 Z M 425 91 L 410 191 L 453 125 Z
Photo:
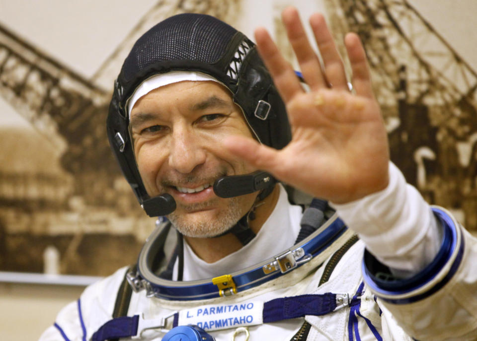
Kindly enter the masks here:
M 310 45 L 297 9 L 294 7 L 284 9 L 282 20 L 307 84 L 311 89 L 325 87 L 326 80 L 321 72 L 319 59 Z

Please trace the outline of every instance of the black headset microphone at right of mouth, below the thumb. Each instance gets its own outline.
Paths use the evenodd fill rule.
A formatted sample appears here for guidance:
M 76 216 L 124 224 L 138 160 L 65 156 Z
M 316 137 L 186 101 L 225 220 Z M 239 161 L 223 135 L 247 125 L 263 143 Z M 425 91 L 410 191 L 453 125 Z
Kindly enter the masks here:
M 264 171 L 225 176 L 214 182 L 214 193 L 221 198 L 238 197 L 263 190 L 276 182 L 270 173 Z

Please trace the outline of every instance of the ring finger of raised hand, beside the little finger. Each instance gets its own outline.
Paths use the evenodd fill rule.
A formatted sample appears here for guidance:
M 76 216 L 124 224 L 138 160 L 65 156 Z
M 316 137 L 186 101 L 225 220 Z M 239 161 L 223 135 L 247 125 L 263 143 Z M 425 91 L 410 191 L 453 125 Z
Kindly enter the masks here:
M 343 61 L 336 49 L 333 36 L 328 30 L 323 15 L 319 13 L 313 14 L 310 17 L 310 25 L 323 60 L 326 79 L 333 88 L 348 90 Z

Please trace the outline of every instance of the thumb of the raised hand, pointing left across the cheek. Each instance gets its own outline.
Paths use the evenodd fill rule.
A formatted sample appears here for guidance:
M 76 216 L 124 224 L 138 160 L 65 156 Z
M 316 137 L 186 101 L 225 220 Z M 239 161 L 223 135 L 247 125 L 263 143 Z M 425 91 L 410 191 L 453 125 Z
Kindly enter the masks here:
M 280 163 L 277 162 L 278 151 L 256 140 L 244 136 L 229 136 L 224 140 L 225 148 L 240 157 L 254 168 L 274 173 Z

